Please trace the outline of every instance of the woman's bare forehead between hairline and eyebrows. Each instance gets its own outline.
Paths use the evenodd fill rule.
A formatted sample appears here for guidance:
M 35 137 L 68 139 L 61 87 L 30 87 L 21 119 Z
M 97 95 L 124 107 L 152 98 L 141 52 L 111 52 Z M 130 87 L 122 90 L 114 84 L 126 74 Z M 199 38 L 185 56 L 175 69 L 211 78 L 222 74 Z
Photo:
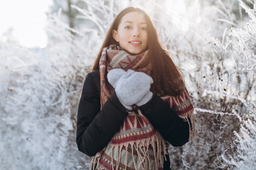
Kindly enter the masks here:
M 129 12 L 122 17 L 120 24 L 124 24 L 125 22 L 146 23 L 146 18 L 140 12 Z

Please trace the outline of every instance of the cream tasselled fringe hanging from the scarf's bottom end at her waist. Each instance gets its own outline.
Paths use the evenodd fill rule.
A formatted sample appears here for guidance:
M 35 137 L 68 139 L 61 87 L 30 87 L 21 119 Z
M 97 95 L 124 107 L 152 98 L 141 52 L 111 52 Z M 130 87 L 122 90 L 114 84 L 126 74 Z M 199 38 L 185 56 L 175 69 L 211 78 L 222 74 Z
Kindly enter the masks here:
M 111 161 L 108 163 L 111 164 L 112 170 L 120 170 L 124 169 L 126 170 L 128 167 L 128 150 L 130 149 L 132 153 L 136 152 L 137 153 L 137 158 L 135 157 L 134 154 L 132 155 L 132 162 L 134 165 L 135 170 L 158 170 L 159 169 L 159 164 L 163 164 L 164 159 L 166 160 L 166 154 L 167 151 L 167 146 L 165 144 L 164 139 L 162 136 L 159 134 L 157 131 L 156 135 L 153 136 L 152 139 L 145 140 L 145 141 L 136 141 L 134 143 L 127 143 L 125 145 L 112 145 L 111 142 L 108 144 L 111 145 L 110 147 L 106 146 L 98 152 L 92 159 L 90 163 L 90 170 L 105 170 L 106 167 L 102 165 L 100 160 L 102 159 L 101 157 L 104 157 L 103 152 L 108 152 L 106 148 L 110 148 L 111 150 Z M 149 148 L 150 146 L 153 149 L 153 155 L 154 155 L 154 160 L 150 159 L 150 152 Z M 117 160 L 114 160 L 113 158 L 117 155 Z M 122 156 L 125 155 L 124 162 L 121 163 Z M 153 156 L 151 155 L 151 157 Z M 164 159 L 163 159 L 164 158 Z M 106 159 L 102 159 L 106 160 Z M 152 163 L 151 161 L 154 161 Z M 139 162 L 139 164 L 137 164 Z M 124 168 L 120 168 L 120 163 L 124 164 Z M 152 167 L 153 165 L 155 167 Z M 139 169 L 138 169 L 139 167 Z

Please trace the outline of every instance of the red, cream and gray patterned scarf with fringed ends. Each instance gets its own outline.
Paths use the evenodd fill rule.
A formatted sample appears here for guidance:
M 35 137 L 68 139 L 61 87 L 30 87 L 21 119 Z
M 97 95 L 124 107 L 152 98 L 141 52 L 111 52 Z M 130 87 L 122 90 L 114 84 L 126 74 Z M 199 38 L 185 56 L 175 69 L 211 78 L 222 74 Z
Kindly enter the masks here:
M 115 89 L 108 83 L 106 73 L 112 68 L 132 69 L 150 75 L 151 64 L 148 51 L 138 55 L 129 55 L 119 46 L 104 48 L 99 62 L 101 79 L 101 106 Z M 187 91 L 180 96 L 161 97 L 177 114 L 191 120 L 190 137 L 195 137 L 193 104 Z M 90 170 L 162 170 L 166 144 L 162 135 L 150 124 L 150 121 L 138 109 L 124 120 L 124 124 L 112 137 L 109 144 L 99 151 L 90 163 Z

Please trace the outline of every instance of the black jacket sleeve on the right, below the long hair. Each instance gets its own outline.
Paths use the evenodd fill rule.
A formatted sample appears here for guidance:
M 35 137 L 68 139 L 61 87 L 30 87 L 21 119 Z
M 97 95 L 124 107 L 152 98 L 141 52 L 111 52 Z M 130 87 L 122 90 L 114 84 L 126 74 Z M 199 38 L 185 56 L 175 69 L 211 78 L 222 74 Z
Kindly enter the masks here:
M 188 122 L 179 117 L 175 110 L 156 94 L 148 103 L 139 106 L 139 109 L 171 145 L 182 146 L 189 141 Z

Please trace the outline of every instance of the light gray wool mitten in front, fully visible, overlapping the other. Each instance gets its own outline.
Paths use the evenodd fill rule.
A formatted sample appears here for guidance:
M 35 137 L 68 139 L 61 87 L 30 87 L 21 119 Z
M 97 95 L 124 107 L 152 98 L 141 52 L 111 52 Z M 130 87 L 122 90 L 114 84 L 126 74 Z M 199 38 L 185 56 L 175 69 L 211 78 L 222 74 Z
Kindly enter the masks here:
M 133 104 L 141 106 L 152 98 L 153 93 L 150 92 L 152 83 L 153 79 L 149 75 L 128 70 L 119 78 L 115 92 L 124 107 L 132 110 Z

